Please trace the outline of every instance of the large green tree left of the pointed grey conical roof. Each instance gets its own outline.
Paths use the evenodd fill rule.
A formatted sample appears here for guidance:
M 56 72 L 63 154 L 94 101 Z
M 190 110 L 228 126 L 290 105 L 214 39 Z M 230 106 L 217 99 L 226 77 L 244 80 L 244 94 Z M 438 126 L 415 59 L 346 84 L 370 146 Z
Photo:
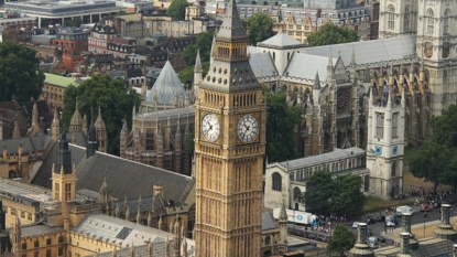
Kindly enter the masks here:
M 140 104 L 140 95 L 134 89 L 127 89 L 122 79 L 112 78 L 106 74 L 94 75 L 78 86 L 70 85 L 64 94 L 64 130 L 69 127 L 76 101 L 78 101 L 79 113 L 87 114 L 88 117 L 93 114 L 94 120 L 97 118 L 98 107 L 101 108 L 109 138 L 108 152 L 119 154 L 122 119 L 127 118 L 129 122 L 131 121 L 132 108 L 133 105 Z

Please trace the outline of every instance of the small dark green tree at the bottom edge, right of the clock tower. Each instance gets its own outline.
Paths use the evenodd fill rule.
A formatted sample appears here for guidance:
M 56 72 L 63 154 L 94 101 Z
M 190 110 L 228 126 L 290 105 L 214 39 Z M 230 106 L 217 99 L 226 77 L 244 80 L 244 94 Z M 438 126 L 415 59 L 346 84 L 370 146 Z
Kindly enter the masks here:
M 335 227 L 330 240 L 328 240 L 327 250 L 330 254 L 338 254 L 345 256 L 345 253 L 350 250 L 356 244 L 356 237 L 352 232 L 345 225 Z

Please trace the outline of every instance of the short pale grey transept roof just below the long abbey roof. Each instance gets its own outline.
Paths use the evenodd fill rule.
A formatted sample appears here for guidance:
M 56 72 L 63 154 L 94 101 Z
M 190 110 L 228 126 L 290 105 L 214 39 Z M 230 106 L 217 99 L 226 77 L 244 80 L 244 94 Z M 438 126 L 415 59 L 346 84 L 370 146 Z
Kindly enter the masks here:
M 328 53 L 327 56 L 294 53 L 284 74 L 289 73 L 290 77 L 314 81 L 316 72 L 318 72 L 320 81 L 325 82 L 327 79 L 328 58 Z M 338 58 L 333 58 L 334 66 L 337 61 Z

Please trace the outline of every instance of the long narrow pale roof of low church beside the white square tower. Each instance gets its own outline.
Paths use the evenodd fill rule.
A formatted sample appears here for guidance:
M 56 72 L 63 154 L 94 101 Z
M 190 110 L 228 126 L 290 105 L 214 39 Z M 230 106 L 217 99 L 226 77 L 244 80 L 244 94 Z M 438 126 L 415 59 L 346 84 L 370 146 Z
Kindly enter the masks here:
M 313 164 L 323 163 L 326 161 L 328 162 L 328 161 L 338 160 L 338 159 L 346 158 L 352 154 L 359 154 L 359 153 L 364 153 L 364 152 L 366 151 L 363 149 L 358 148 L 358 147 L 352 147 L 352 148 L 347 148 L 347 149 L 336 148 L 333 152 L 327 152 L 327 153 L 323 153 L 319 156 L 300 158 L 300 159 L 295 159 L 292 161 L 284 161 L 284 162 L 281 162 L 280 164 L 282 167 L 289 165 L 289 169 L 293 170 L 293 169 L 297 169 L 304 165 L 313 165 Z

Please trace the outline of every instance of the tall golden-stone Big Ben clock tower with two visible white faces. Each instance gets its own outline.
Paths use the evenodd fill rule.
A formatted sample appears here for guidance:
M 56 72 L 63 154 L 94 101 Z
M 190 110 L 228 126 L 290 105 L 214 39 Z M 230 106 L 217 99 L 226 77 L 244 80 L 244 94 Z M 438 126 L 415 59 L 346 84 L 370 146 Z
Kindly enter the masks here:
M 196 256 L 260 257 L 266 107 L 235 0 L 226 10 L 196 101 Z

